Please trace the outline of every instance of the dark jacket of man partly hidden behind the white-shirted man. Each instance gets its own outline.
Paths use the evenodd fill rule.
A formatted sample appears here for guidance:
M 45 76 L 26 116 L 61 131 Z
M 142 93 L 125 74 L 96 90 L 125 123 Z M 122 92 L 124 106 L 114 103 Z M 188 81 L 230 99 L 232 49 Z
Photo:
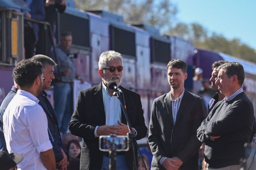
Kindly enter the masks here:
M 40 106 L 42 106 L 42 108 L 44 109 L 44 112 L 46 114 L 47 121 L 48 121 L 48 128 L 49 128 L 49 130 L 50 130 L 50 132 L 53 136 L 54 141 L 56 143 L 58 143 L 58 147 L 68 155 L 67 149 L 66 149 L 66 147 L 64 146 L 64 144 L 62 143 L 62 140 L 61 140 L 58 121 L 57 121 L 57 115 L 56 115 L 56 113 L 53 109 L 52 104 L 49 102 L 49 100 L 47 99 L 46 96 L 47 96 L 47 93 L 45 91 L 43 91 L 39 96 L 37 96 L 37 98 L 39 100 L 38 104 Z M 51 140 L 50 134 L 49 134 L 49 138 Z M 55 155 L 56 162 L 58 162 L 58 160 L 63 159 L 63 157 L 60 153 L 55 153 L 54 152 L 54 155 Z

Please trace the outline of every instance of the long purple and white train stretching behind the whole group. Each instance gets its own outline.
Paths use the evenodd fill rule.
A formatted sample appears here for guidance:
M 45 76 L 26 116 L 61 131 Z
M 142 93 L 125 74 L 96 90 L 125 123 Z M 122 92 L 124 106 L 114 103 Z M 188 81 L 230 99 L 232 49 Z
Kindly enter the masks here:
M 14 3 L 16 1 L 16 3 Z M 22 0 L 0 2 L 0 104 L 13 85 L 12 69 L 24 55 L 24 15 Z M 141 96 L 145 124 L 148 126 L 153 100 L 168 92 L 167 64 L 179 58 L 188 64 L 185 88 L 193 88 L 194 69 L 201 67 L 204 78 L 210 79 L 211 65 L 215 61 L 240 62 L 245 68 L 246 94 L 256 106 L 256 64 L 219 52 L 195 49 L 194 45 L 180 37 L 160 35 L 159 29 L 148 25 L 128 25 L 118 16 L 107 11 L 82 11 L 75 2 L 67 0 L 64 13 L 56 16 L 52 39 L 59 43 L 62 32 L 72 32 L 72 50 L 76 71 L 90 85 L 102 80 L 98 75 L 99 55 L 107 50 L 122 54 L 124 70 L 122 85 Z M 40 22 L 40 24 L 47 23 Z M 54 48 L 53 48 L 54 49 Z M 50 97 L 53 91 L 49 90 Z M 53 97 L 51 99 L 53 102 Z M 255 107 L 256 108 L 256 107 Z M 255 114 L 255 113 L 254 113 Z M 255 114 L 256 115 L 256 114 Z M 139 143 L 146 143 L 146 138 Z

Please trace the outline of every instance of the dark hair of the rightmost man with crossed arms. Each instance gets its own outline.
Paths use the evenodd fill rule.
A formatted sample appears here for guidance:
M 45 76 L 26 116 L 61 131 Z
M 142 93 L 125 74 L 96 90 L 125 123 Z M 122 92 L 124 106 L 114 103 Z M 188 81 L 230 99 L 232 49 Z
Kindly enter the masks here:
M 220 69 L 224 70 L 228 78 L 230 78 L 233 75 L 236 75 L 239 85 L 243 85 L 245 80 L 245 71 L 242 64 L 238 62 L 229 62 L 219 66 L 217 70 L 220 71 Z

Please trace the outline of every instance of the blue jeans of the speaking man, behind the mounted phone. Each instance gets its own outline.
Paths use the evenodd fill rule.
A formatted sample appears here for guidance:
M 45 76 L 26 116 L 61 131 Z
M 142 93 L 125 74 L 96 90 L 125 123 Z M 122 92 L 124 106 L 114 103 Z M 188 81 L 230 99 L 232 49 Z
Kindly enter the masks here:
M 108 165 L 109 157 L 104 155 L 101 170 L 109 170 Z M 117 155 L 117 170 L 128 170 L 125 155 Z

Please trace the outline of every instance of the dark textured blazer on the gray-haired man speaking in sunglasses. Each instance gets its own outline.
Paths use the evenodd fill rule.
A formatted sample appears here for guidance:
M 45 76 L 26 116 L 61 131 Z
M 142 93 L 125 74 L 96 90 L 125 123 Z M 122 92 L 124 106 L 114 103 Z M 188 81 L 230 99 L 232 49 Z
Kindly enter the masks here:
M 147 127 L 143 117 L 140 96 L 129 89 L 119 86 L 123 91 L 126 108 L 131 126 L 136 129 L 136 139 L 146 136 Z M 122 123 L 126 123 L 122 112 Z M 103 161 L 103 152 L 99 150 L 99 138 L 94 136 L 96 126 L 105 125 L 106 116 L 102 97 L 102 83 L 81 90 L 78 94 L 75 112 L 69 123 L 69 130 L 73 135 L 83 138 L 80 169 L 100 170 Z M 137 150 L 137 149 L 136 149 Z M 135 153 L 137 157 L 137 153 Z M 130 170 L 133 169 L 133 152 L 130 148 L 125 152 L 126 162 Z M 137 158 L 136 158 L 137 159 Z

